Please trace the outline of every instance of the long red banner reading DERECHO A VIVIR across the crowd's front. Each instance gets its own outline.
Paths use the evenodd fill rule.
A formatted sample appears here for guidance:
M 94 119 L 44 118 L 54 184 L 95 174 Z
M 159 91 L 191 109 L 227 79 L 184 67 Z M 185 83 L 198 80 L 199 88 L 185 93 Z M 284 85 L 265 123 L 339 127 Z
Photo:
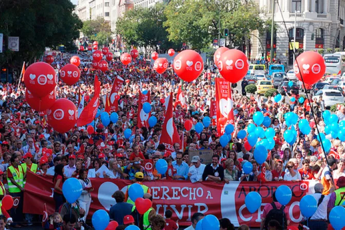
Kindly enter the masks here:
M 126 192 L 129 180 L 91 178 L 94 191 L 91 193 L 91 207 L 88 217 L 98 209 L 109 210 L 116 204 L 111 198 L 114 191 L 121 189 Z M 261 213 L 264 205 L 273 201 L 272 194 L 279 185 L 285 184 L 292 189 L 292 200 L 289 205 L 290 220 L 298 223 L 302 220 L 299 201 L 314 192 L 315 181 L 302 182 L 238 182 L 218 184 L 214 182 L 190 183 L 189 181 L 144 182 L 151 188 L 153 207 L 163 215 L 166 209 L 172 210 L 172 219 L 179 220 L 180 225 L 190 225 L 191 216 L 195 212 L 205 215 L 213 214 L 217 218 L 228 218 L 235 226 L 247 224 L 251 227 L 260 226 Z M 42 215 L 44 203 L 48 214 L 54 213 L 52 177 L 37 176 L 29 172 L 24 192 L 24 213 Z M 257 191 L 262 197 L 260 211 L 250 214 L 244 204 L 245 196 L 250 191 Z

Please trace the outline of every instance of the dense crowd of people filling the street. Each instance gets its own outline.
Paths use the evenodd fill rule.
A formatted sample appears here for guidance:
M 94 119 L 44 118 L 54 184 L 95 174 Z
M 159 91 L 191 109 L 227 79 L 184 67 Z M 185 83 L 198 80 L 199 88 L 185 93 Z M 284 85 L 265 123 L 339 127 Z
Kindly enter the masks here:
M 25 214 L 24 221 L 24 215 L 21 212 L 27 171 L 43 176 L 53 176 L 56 214 L 50 219 L 49 229 L 54 229 L 59 224 L 65 224 L 65 229 L 69 229 L 67 223 L 77 229 L 86 225 L 91 203 L 90 193 L 93 190 L 90 178 L 127 179 L 133 182 L 189 180 L 193 183 L 319 180 L 323 187 L 322 194 L 328 195 L 336 189 L 334 179 L 345 176 L 344 143 L 333 139 L 331 135 L 326 135 L 328 139 L 331 139 L 332 152 L 334 152 L 333 156 L 327 157 L 323 154 L 317 139 L 316 126 L 320 132 L 324 132 L 325 123 L 321 114 L 322 110 L 316 111 L 314 106 L 320 108 L 319 105 L 322 102 L 314 102 L 311 99 L 305 100 L 304 103 L 299 103 L 298 100 L 291 102 L 290 96 L 287 95 L 276 103 L 273 97 L 267 100 L 253 95 L 247 97 L 233 89 L 235 130 L 228 144 L 223 147 L 219 142 L 220 133 L 217 133 L 216 122 L 210 127 L 205 127 L 201 133 L 197 133 L 194 128 L 190 131 L 184 128 L 186 120 L 193 121 L 195 125 L 204 117 L 210 116 L 210 100 L 215 98 L 214 79 L 218 76 L 216 72 L 207 70 L 193 83 L 185 83 L 180 81 L 171 67 L 168 67 L 163 74 L 158 74 L 152 69 L 150 62 L 135 60 L 130 65 L 124 66 L 119 59 L 115 59 L 109 62 L 109 70 L 102 73 L 92 69 L 90 54 L 84 53 L 80 56 L 82 59 L 80 81 L 74 86 L 59 82 L 59 87 L 56 88 L 57 98 L 67 98 L 78 107 L 78 94 L 81 92 L 85 95 L 86 105 L 94 96 L 94 76 L 98 75 L 102 94 L 99 109 L 102 112 L 105 108 L 102 99 L 110 92 L 112 80 L 116 76 L 130 80 L 125 82 L 119 91 L 120 106 L 117 111 L 119 121 L 104 126 L 99 117 L 95 118 L 93 133 L 88 133 L 85 126 L 75 127 L 67 133 L 54 131 L 45 122 L 45 115 L 33 111 L 26 102 L 24 83 L 19 86 L 18 91 L 15 90 L 17 87 L 15 84 L 0 83 L 2 96 L 0 97 L 2 116 L 0 175 L 4 174 L 1 183 L 6 188 L 3 194 L 21 197 L 18 207 L 11 212 L 14 227 L 32 225 L 33 221 L 31 214 Z M 70 57 L 69 54 L 58 54 L 52 65 L 55 68 L 61 68 L 69 63 Z M 164 144 L 160 144 L 165 119 L 164 100 L 170 91 L 174 92 L 174 98 L 176 98 L 179 86 L 183 88 L 184 103 L 176 105 L 173 116 L 179 136 L 183 141 L 174 143 L 174 151 L 169 152 Z M 143 90 L 150 91 L 151 116 L 155 116 L 158 121 L 151 128 L 137 126 L 138 95 Z M 291 97 L 298 97 L 298 95 L 293 94 Z M 312 108 L 309 101 L 313 105 Z M 256 111 L 262 111 L 265 116 L 271 118 L 270 127 L 274 128 L 276 133 L 275 147 L 262 165 L 259 165 L 253 157 L 254 148 L 248 150 L 244 146 L 244 140 L 237 138 L 240 130 L 246 129 L 248 124 L 253 123 L 252 116 Z M 290 111 L 296 113 L 300 119 L 308 120 L 312 127 L 309 135 L 299 132 L 297 141 L 293 145 L 285 142 L 283 138 L 283 133 L 287 128 L 284 114 Z M 134 113 L 131 114 L 132 112 Z M 312 112 L 314 112 L 315 120 Z M 345 120 L 345 107 L 341 107 L 336 114 L 339 121 Z M 132 130 L 132 136 L 128 139 L 124 136 L 124 130 L 127 128 Z M 298 127 L 296 128 L 298 131 Z M 105 143 L 105 146 L 97 144 L 100 140 Z M 189 159 L 188 151 L 198 149 L 212 150 L 212 163 L 203 164 L 199 156 Z M 159 159 L 165 159 L 168 163 L 166 174 L 161 175 L 156 169 L 146 172 L 143 162 L 147 159 L 152 159 L 154 164 Z M 245 174 L 242 170 L 245 162 L 253 164 L 250 174 Z M 100 170 L 103 166 L 108 170 Z M 74 215 L 66 215 L 71 210 L 64 206 L 66 201 L 62 193 L 62 185 L 70 177 L 79 179 L 83 186 L 81 197 L 72 204 L 72 212 L 75 212 L 78 218 L 73 218 Z M 152 199 L 150 192 L 146 191 L 146 193 L 147 198 Z M 121 201 L 128 200 L 128 194 L 120 194 L 120 191 L 113 197 L 117 200 L 117 205 L 121 204 Z M 128 225 L 136 221 L 139 224 L 140 220 L 132 221 L 132 218 L 127 216 L 132 213 L 131 207 L 123 205 L 121 208 L 127 209 L 128 212 L 127 215 L 121 217 L 113 215 L 119 213 L 114 207 L 116 206 L 112 207 L 113 210 L 110 209 L 110 216 L 120 225 L 122 223 Z M 126 220 L 126 216 L 130 220 Z M 192 225 L 188 229 L 194 229 L 202 216 L 202 214 L 193 215 Z M 143 221 L 145 223 L 140 224 L 141 226 L 148 224 L 152 229 L 164 227 L 176 229 L 177 226 L 172 223 L 167 227 L 169 218 L 171 214 L 167 210 L 165 219 L 159 215 L 152 215 L 148 218 L 149 222 Z M 1 220 L 0 218 L 0 225 Z M 233 229 L 228 220 L 223 219 L 220 223 L 221 229 Z

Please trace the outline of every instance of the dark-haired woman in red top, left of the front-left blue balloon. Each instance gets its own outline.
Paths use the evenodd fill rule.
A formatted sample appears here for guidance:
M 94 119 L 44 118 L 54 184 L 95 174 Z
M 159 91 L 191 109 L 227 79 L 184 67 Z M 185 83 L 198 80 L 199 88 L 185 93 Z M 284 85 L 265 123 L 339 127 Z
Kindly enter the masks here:
M 65 198 L 62 194 L 62 185 L 65 182 L 64 176 L 64 165 L 58 164 L 54 168 L 55 174 L 53 177 L 54 183 L 54 201 L 55 201 L 55 212 L 59 212 L 60 206 L 64 203 Z

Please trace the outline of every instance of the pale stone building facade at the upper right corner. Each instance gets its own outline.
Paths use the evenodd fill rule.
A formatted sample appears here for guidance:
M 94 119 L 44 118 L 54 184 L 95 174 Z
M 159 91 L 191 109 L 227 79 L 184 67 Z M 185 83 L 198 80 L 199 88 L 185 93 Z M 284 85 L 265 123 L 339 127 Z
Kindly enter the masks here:
M 263 19 L 272 18 L 273 0 L 256 2 L 266 11 Z M 283 64 L 292 65 L 294 44 L 296 52 L 328 48 L 342 50 L 345 47 L 344 18 L 345 0 L 275 0 L 275 58 Z M 296 43 L 293 43 L 295 22 Z M 253 34 L 251 58 L 258 59 L 264 54 L 270 59 L 271 33 L 253 31 Z M 292 42 L 290 46 L 289 41 Z

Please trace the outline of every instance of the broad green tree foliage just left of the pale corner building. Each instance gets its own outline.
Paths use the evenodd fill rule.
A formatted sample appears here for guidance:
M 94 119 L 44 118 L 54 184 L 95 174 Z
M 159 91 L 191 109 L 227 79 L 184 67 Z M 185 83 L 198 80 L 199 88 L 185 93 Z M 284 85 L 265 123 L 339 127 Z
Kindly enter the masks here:
M 243 36 L 253 30 L 263 30 L 259 7 L 253 1 L 241 0 L 172 0 L 166 7 L 168 38 L 186 42 L 195 49 L 208 47 L 225 28 L 242 43 Z M 220 24 L 219 24 L 220 21 Z M 222 36 L 221 36 L 222 37 Z

